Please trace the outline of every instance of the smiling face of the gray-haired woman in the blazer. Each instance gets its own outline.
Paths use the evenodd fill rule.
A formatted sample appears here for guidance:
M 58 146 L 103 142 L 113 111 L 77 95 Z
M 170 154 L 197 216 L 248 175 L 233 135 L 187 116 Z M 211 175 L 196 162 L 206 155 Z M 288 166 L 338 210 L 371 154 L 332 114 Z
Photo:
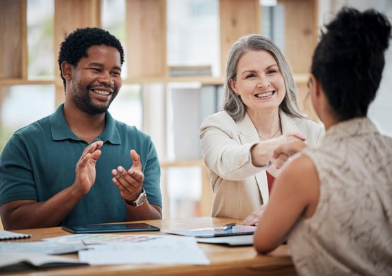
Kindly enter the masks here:
M 286 93 L 278 64 L 268 51 L 246 51 L 239 59 L 236 80 L 230 87 L 246 105 L 247 111 L 259 113 L 279 108 Z

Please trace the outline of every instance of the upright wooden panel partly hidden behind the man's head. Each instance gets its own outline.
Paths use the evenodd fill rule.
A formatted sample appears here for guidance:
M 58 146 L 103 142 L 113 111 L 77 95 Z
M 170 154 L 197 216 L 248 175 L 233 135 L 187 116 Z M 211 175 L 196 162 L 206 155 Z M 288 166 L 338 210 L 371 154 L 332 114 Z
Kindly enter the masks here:
M 55 76 L 60 79 L 58 51 L 64 38 L 79 27 L 100 27 L 100 0 L 55 0 L 54 2 L 54 52 Z M 56 85 L 56 106 L 64 101 L 64 87 Z

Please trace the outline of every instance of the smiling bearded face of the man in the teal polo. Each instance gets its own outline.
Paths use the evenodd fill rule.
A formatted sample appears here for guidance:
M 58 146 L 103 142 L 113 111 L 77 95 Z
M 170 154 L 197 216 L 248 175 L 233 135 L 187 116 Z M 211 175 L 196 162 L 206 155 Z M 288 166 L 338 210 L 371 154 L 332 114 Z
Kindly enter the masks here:
M 72 67 L 72 91 L 67 93 L 76 108 L 90 115 L 105 113 L 121 87 L 120 53 L 114 47 L 89 47 L 87 57 Z

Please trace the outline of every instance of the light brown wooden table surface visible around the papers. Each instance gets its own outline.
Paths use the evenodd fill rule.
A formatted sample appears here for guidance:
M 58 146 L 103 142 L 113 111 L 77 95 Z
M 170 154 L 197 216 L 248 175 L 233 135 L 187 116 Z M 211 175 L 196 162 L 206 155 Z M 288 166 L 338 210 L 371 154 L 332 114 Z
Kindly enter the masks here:
M 160 227 L 162 231 L 166 231 L 221 226 L 235 221 L 227 218 L 198 217 L 176 220 L 146 220 L 143 222 Z M 237 222 L 240 221 L 237 220 Z M 149 232 L 149 234 L 162 235 L 162 231 Z M 31 234 L 32 238 L 28 239 L 29 241 L 52 238 L 58 235 L 70 235 L 70 233 L 63 231 L 60 227 L 25 229 L 14 232 Z M 140 233 L 142 232 L 136 232 L 136 234 Z M 8 273 L 7 275 L 296 275 L 290 254 L 285 245 L 279 246 L 278 249 L 269 255 L 258 255 L 254 251 L 253 246 L 229 247 L 217 244 L 199 244 L 199 247 L 206 253 L 208 260 L 210 260 L 208 266 L 186 264 L 71 266 L 41 268 L 36 271 Z M 76 254 L 68 254 L 67 256 L 77 258 Z M 0 276 L 2 275 L 4 274 L 0 274 Z

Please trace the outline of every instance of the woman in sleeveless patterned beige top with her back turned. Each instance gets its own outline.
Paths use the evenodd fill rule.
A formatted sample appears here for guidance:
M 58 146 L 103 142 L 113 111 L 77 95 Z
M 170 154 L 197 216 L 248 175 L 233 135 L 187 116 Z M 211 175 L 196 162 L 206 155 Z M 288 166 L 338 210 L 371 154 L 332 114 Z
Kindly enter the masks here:
M 392 275 L 392 138 L 367 117 L 390 38 L 380 12 L 344 8 L 314 52 L 309 89 L 325 137 L 283 169 L 254 236 L 259 253 L 287 238 L 300 275 Z

